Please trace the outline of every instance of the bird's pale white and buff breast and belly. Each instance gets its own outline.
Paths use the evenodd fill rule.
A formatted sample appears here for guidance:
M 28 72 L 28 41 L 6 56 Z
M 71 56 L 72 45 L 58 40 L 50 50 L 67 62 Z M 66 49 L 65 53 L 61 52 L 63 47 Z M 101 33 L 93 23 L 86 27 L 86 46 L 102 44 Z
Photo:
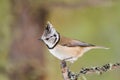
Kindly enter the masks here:
M 57 45 L 55 48 L 49 49 L 50 53 L 60 60 L 70 57 L 73 57 L 72 59 L 77 59 L 82 55 L 81 50 L 80 47 L 67 47 L 62 45 Z

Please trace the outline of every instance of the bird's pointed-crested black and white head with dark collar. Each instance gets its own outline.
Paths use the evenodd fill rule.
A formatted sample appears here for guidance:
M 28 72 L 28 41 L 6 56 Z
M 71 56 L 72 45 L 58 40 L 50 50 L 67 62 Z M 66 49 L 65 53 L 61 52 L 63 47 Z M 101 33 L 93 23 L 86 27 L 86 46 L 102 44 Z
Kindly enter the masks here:
M 45 30 L 43 32 L 43 35 L 42 35 L 41 39 L 44 41 L 44 43 L 47 45 L 47 47 L 49 49 L 52 49 L 59 42 L 60 35 L 55 30 L 53 25 L 50 22 L 48 22 L 47 25 L 46 25 L 46 28 L 45 28 Z

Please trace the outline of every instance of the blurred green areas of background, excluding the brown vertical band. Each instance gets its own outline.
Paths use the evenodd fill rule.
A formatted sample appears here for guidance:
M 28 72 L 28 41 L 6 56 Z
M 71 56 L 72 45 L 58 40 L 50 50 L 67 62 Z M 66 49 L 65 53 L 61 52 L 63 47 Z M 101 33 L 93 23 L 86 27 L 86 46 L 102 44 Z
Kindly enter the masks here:
M 69 3 L 69 0 L 65 0 L 65 2 Z M 12 20 L 10 1 L 0 0 L 0 80 L 9 80 L 4 70 L 9 64 Z M 110 48 L 109 50 L 100 49 L 87 52 L 70 67 L 74 72 L 78 72 L 82 67 L 120 62 L 119 0 L 76 9 L 54 8 L 51 10 L 49 21 L 61 35 Z M 60 61 L 52 56 L 47 48 L 45 50 L 49 80 L 63 80 Z M 102 75 L 85 75 L 85 77 L 88 80 L 119 80 L 120 70 L 113 70 Z

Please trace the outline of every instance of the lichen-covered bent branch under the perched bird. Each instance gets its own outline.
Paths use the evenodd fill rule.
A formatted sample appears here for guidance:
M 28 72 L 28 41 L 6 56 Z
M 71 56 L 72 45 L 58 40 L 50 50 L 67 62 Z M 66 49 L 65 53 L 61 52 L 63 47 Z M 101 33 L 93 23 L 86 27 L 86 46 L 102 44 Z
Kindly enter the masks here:
M 101 67 L 82 68 L 78 73 L 73 73 L 67 67 L 66 62 L 64 60 L 61 61 L 61 70 L 64 80 L 77 80 L 78 77 L 81 77 L 82 75 L 93 74 L 93 73 L 102 74 L 104 72 L 118 68 L 120 68 L 120 63 L 105 64 Z

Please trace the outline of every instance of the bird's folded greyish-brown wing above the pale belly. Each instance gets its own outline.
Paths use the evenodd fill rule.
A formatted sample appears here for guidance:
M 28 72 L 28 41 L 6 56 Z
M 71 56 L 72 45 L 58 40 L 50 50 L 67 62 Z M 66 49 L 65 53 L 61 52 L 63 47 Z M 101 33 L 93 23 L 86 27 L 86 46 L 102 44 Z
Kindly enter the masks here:
M 89 46 L 95 46 L 93 44 L 81 42 L 79 40 L 72 40 L 66 37 L 62 37 L 60 40 L 60 43 L 63 46 L 68 46 L 68 47 L 75 47 L 75 46 L 80 46 L 80 47 L 89 47 Z

